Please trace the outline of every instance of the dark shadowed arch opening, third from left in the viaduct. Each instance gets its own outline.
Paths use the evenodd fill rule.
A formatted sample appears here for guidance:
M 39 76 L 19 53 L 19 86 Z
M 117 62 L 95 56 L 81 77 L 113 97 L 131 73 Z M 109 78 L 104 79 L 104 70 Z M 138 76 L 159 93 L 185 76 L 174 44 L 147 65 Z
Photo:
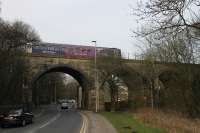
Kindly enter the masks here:
M 126 66 L 117 74 L 128 87 L 128 108 L 136 110 L 149 104 L 149 82 L 135 69 Z

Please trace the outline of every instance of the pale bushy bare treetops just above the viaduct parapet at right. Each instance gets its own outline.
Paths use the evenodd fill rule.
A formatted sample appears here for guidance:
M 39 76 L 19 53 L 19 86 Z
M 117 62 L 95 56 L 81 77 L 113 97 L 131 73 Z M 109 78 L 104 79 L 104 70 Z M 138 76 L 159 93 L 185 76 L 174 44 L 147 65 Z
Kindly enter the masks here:
M 162 34 L 162 33 L 160 33 Z M 189 45 L 185 36 L 166 36 L 157 39 L 156 34 L 145 37 L 146 50 L 143 54 L 154 52 L 155 60 L 175 63 L 198 63 L 199 49 L 195 43 Z M 151 48 L 150 48 L 151 47 Z M 146 55 L 145 54 L 145 55 Z

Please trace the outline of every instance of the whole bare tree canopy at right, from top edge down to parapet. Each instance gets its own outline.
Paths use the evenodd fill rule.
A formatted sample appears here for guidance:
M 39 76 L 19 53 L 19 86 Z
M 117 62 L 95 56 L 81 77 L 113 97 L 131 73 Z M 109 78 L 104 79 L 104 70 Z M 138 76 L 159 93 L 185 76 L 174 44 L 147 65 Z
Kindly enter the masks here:
M 133 32 L 137 37 L 153 42 L 152 46 L 163 52 L 160 55 L 172 50 L 166 56 L 176 59 L 170 61 L 197 63 L 200 55 L 199 7 L 199 0 L 140 1 L 133 14 L 138 17 L 141 28 Z M 164 53 L 166 49 L 168 53 Z

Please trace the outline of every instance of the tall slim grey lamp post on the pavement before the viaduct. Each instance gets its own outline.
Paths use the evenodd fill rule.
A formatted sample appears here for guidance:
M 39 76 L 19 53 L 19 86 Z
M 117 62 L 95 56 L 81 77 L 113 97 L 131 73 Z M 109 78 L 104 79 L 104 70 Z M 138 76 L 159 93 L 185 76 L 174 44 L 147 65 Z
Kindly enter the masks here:
M 95 46 L 95 55 L 94 55 L 94 70 L 95 70 L 95 94 L 96 94 L 96 101 L 95 101 L 95 112 L 98 112 L 99 108 L 99 88 L 98 88 L 98 74 L 97 74 L 97 41 L 92 41 Z

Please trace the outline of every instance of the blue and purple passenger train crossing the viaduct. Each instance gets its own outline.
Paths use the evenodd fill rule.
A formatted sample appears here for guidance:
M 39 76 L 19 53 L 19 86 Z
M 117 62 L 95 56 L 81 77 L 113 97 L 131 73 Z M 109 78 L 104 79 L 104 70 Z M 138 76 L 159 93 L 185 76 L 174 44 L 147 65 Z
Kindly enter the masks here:
M 32 55 L 62 56 L 75 58 L 92 58 L 95 56 L 94 46 L 38 43 L 28 50 Z M 117 48 L 96 47 L 97 56 L 121 57 L 121 50 Z

